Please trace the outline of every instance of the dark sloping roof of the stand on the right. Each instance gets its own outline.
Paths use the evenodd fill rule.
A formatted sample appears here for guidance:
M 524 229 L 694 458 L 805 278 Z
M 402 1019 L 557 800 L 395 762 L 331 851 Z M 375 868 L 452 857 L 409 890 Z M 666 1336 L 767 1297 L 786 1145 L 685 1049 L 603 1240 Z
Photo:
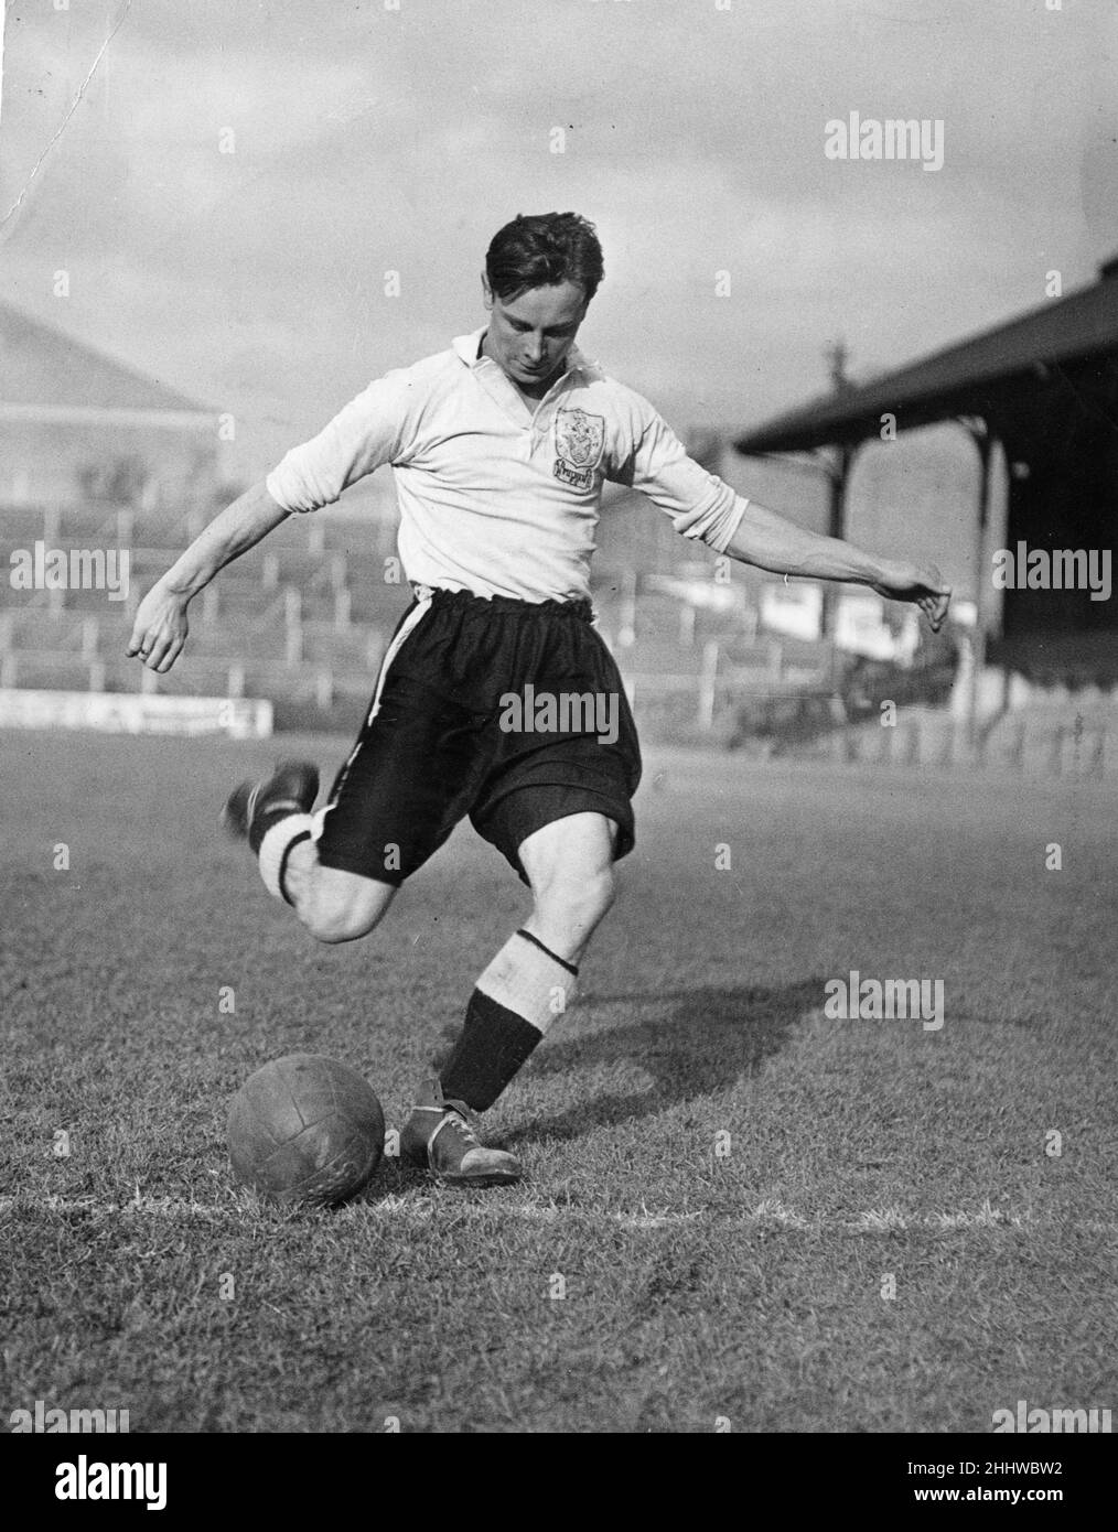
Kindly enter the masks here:
M 738 452 L 805 452 L 877 435 L 891 412 L 911 429 L 955 415 L 985 415 L 1006 386 L 1046 366 L 1118 352 L 1118 256 L 1089 288 L 1052 299 L 1005 325 L 962 340 L 896 372 L 847 385 L 755 427 Z

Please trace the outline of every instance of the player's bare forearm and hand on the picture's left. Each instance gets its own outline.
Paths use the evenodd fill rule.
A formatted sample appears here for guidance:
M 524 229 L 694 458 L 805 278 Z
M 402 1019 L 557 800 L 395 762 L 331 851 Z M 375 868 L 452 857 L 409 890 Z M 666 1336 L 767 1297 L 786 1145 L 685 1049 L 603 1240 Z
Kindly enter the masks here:
M 218 570 L 265 538 L 290 512 L 275 502 L 264 484 L 253 484 L 195 538 L 167 573 L 152 585 L 136 608 L 127 654 L 164 674 L 187 640 L 187 607 Z

